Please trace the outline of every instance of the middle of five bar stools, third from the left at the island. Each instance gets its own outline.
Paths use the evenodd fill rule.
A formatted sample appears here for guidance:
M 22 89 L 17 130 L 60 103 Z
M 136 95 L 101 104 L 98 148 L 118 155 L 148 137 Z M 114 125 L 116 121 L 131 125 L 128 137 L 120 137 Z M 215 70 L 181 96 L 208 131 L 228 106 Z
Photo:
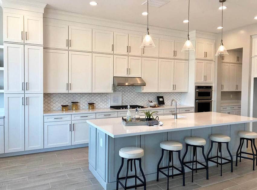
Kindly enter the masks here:
M 189 168 L 190 170 L 192 170 L 192 182 L 194 182 L 194 170 L 197 172 L 197 170 L 200 169 L 206 169 L 206 179 L 209 179 L 209 167 L 208 167 L 208 161 L 205 157 L 204 154 L 204 146 L 206 144 L 206 140 L 201 138 L 201 137 L 185 137 L 185 143 L 186 143 L 186 152 L 184 153 L 182 162 L 184 164 L 184 166 L 186 166 L 187 168 Z M 193 147 L 193 160 L 192 161 L 188 161 L 188 162 L 184 162 L 184 159 L 187 155 L 187 151 L 188 151 L 188 147 Z M 197 161 L 197 148 L 201 148 L 202 149 L 202 154 L 203 154 L 203 158 L 206 162 L 206 165 L 204 165 L 203 163 L 200 163 L 199 161 Z M 195 161 L 194 161 L 194 157 L 195 157 Z M 187 166 L 187 164 L 192 163 L 192 167 Z M 195 163 L 195 168 L 194 168 L 194 163 Z M 197 168 L 197 164 L 200 164 L 201 168 Z

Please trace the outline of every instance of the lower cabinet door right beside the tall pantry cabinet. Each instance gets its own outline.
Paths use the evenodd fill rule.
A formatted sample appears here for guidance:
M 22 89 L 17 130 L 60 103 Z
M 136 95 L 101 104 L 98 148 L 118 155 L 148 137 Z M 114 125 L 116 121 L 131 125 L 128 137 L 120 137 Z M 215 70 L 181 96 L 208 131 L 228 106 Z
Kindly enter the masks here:
M 44 123 L 44 148 L 71 145 L 71 121 Z

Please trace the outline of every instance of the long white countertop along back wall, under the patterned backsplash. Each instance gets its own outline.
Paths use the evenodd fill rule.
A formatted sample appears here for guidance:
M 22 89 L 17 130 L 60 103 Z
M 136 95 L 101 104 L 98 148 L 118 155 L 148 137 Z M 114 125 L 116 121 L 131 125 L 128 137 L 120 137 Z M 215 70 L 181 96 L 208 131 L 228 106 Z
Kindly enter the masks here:
M 158 108 L 141 108 L 140 110 L 160 110 L 160 109 L 172 109 L 175 108 L 175 106 L 160 106 Z M 190 105 L 177 105 L 177 108 L 194 108 L 194 106 Z M 132 111 L 135 109 L 131 109 Z M 87 113 L 100 113 L 100 112 L 113 112 L 113 111 L 127 111 L 124 110 L 115 110 L 112 108 L 96 108 L 96 109 L 79 109 L 79 110 L 68 110 L 68 111 L 44 111 L 44 116 L 46 115 L 61 115 L 61 114 L 87 114 Z

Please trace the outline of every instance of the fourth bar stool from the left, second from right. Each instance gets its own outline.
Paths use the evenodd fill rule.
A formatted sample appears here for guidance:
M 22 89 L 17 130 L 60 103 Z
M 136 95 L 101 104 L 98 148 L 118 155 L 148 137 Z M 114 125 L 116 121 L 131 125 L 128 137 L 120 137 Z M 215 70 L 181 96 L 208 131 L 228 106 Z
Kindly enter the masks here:
M 212 134 L 210 136 L 210 140 L 211 140 L 211 147 L 210 147 L 210 150 L 207 154 L 207 160 L 210 161 L 210 162 L 216 163 L 217 167 L 218 167 L 218 165 L 220 165 L 220 176 L 222 176 L 222 165 L 224 165 L 224 164 L 230 163 L 231 164 L 231 172 L 233 172 L 233 157 L 232 157 L 232 155 L 229 151 L 230 137 L 227 136 L 227 135 L 223 135 L 223 134 Z M 217 156 L 213 156 L 213 157 L 209 158 L 209 155 L 210 155 L 211 150 L 213 148 L 213 143 L 218 143 Z M 222 151 L 221 151 L 221 144 L 222 143 L 226 143 L 226 147 L 227 147 L 227 151 L 229 153 L 230 159 L 222 157 Z M 220 156 L 218 155 L 219 152 L 220 152 Z M 212 160 L 214 158 L 217 158 L 217 161 Z M 219 158 L 220 158 L 220 163 L 218 162 Z M 227 162 L 223 163 L 222 159 L 226 160 Z

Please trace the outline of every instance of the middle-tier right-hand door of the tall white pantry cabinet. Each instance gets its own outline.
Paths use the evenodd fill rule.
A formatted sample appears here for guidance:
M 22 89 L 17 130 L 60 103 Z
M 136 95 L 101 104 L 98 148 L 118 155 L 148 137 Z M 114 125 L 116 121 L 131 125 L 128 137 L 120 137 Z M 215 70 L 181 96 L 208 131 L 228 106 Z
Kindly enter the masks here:
M 43 93 L 43 47 L 24 46 L 25 93 Z

